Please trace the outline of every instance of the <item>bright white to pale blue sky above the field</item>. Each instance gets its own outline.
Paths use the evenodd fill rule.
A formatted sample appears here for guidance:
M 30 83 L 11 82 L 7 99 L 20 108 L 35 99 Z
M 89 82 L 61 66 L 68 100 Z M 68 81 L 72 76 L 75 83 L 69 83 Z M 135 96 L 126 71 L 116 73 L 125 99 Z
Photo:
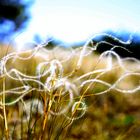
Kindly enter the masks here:
M 140 31 L 139 9 L 140 0 L 36 0 L 25 37 L 77 42 L 106 29 Z

